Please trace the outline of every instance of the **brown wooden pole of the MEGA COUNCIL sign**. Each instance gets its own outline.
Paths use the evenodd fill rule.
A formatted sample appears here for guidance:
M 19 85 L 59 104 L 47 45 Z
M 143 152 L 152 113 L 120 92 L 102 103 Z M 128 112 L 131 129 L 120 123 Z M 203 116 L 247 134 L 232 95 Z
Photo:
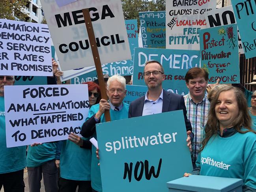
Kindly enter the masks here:
M 91 45 L 91 48 L 92 48 L 92 55 L 93 55 L 93 60 L 94 60 L 96 71 L 97 71 L 99 86 L 101 88 L 101 97 L 103 99 L 108 100 L 105 81 L 104 81 L 103 72 L 102 72 L 102 68 L 101 68 L 101 60 L 99 58 L 98 47 L 97 47 L 95 35 L 94 35 L 94 32 L 93 32 L 92 21 L 91 21 L 89 9 L 82 9 L 82 12 L 83 12 L 83 15 L 84 15 L 84 21 L 85 21 L 86 29 L 87 29 L 87 32 L 88 32 L 90 45 Z M 109 110 L 105 110 L 104 114 L 105 114 L 106 122 L 111 121 Z

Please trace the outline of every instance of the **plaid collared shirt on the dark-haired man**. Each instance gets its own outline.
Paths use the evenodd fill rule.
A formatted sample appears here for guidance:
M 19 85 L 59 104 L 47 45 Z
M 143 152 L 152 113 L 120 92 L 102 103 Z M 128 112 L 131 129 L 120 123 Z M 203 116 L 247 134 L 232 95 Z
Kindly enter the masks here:
M 207 99 L 207 94 L 204 95 L 204 99 L 200 103 L 194 103 L 190 93 L 183 97 L 187 108 L 187 118 L 191 122 L 192 132 L 194 133 L 191 156 L 192 162 L 195 163 L 203 141 L 203 130 L 208 120 L 210 102 Z

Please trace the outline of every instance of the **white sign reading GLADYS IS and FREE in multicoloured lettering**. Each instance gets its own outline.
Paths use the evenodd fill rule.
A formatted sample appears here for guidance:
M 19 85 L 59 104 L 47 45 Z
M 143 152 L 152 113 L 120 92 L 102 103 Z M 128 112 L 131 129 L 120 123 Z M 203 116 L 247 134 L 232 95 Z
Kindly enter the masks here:
M 199 50 L 204 13 L 216 9 L 214 0 L 166 0 L 166 48 Z

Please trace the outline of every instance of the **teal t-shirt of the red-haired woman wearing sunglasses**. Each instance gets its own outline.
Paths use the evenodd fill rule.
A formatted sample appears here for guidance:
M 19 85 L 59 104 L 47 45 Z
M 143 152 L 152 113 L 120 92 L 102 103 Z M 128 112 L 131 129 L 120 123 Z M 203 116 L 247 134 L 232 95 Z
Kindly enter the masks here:
M 90 149 L 83 149 L 77 144 L 65 140 L 60 155 L 60 177 L 75 181 L 90 181 L 91 160 L 92 151 Z

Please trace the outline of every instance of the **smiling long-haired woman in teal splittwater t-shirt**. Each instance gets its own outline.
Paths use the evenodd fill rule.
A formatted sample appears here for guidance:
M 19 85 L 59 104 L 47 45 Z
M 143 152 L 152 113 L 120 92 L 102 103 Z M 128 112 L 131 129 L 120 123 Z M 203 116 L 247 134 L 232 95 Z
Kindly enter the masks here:
M 192 174 L 243 179 L 243 191 L 256 191 L 256 132 L 243 92 L 221 88 L 211 101 L 205 137 Z M 189 176 L 185 173 L 184 176 Z

